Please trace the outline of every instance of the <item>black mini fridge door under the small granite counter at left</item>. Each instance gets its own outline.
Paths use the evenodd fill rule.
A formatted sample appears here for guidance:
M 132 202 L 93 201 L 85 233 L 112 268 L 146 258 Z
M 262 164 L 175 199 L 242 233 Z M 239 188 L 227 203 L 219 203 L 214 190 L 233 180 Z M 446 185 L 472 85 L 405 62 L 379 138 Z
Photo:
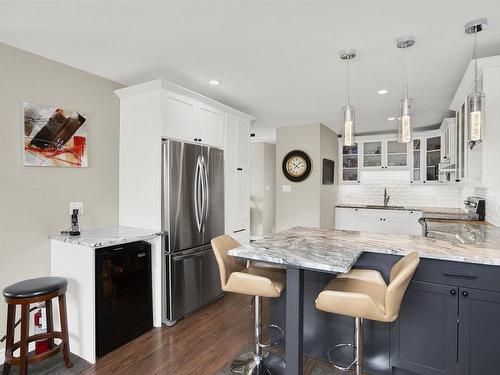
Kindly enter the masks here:
M 153 327 L 151 245 L 136 242 L 96 252 L 97 355 Z

